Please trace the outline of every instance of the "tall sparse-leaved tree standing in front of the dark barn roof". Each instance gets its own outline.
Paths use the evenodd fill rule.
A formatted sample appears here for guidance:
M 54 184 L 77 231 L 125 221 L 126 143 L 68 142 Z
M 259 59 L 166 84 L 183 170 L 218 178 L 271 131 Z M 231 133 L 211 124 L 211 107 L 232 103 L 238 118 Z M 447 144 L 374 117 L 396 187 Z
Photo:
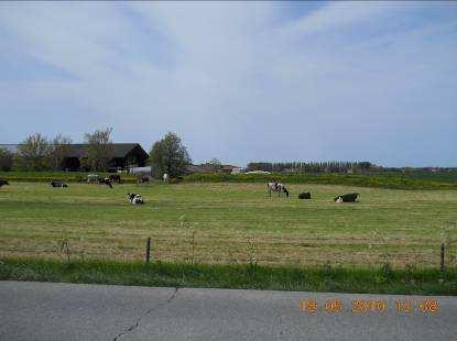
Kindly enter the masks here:
M 106 172 L 109 168 L 109 162 L 112 158 L 112 128 L 106 130 L 96 130 L 94 133 L 85 134 L 86 157 L 83 164 L 90 170 Z

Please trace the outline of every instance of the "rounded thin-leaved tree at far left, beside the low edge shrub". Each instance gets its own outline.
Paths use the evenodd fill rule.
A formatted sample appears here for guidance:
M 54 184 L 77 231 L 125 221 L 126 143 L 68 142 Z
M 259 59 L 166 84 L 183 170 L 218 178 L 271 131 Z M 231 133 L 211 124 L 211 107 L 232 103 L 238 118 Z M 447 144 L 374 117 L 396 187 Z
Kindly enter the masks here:
M 48 165 L 50 142 L 40 133 L 29 135 L 19 146 L 15 162 L 25 170 L 44 170 Z

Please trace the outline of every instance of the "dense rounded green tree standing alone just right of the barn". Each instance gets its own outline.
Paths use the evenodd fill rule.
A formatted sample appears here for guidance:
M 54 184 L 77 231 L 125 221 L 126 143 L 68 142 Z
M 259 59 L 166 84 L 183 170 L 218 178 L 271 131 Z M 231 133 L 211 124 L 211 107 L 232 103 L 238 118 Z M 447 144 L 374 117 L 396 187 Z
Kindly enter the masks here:
M 185 173 L 186 165 L 191 164 L 186 147 L 179 136 L 168 132 L 165 138 L 154 142 L 150 152 L 151 165 L 156 177 L 164 173 L 171 177 L 177 177 Z

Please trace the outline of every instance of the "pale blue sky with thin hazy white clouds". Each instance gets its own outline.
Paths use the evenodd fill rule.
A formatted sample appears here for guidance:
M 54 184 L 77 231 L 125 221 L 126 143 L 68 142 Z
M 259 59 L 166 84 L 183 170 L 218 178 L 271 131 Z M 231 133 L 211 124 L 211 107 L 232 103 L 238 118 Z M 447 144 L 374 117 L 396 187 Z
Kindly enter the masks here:
M 1 2 L 0 143 L 457 166 L 457 2 Z

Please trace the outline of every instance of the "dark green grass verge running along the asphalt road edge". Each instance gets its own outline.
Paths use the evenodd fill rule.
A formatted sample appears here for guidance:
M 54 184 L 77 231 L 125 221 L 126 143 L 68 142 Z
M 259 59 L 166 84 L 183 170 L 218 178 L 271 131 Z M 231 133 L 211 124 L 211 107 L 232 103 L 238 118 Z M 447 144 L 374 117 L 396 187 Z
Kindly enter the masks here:
M 457 271 L 1 258 L 1 280 L 130 286 L 457 295 Z

